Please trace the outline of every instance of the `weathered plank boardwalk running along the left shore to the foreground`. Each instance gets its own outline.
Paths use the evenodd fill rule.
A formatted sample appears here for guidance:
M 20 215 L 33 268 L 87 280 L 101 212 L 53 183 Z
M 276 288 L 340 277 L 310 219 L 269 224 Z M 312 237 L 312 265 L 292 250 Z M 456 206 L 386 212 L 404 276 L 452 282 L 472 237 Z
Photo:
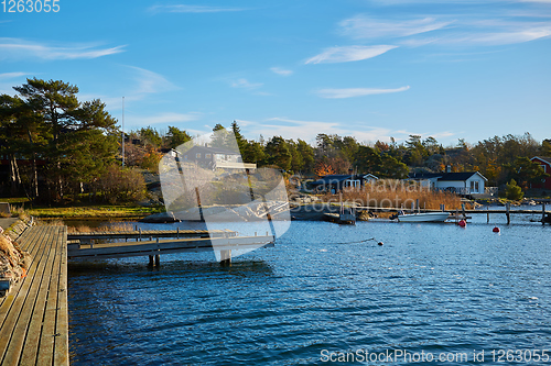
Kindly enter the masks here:
M 0 364 L 68 365 L 66 226 L 33 226 L 18 243 L 26 277 L 0 299 Z

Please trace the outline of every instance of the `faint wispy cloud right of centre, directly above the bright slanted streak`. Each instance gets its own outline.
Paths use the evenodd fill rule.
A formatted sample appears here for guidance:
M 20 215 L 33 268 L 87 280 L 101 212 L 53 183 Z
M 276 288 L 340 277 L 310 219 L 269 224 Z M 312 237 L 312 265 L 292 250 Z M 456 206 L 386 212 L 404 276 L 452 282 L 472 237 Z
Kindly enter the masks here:
M 441 30 L 451 21 L 423 18 L 403 21 L 381 21 L 366 15 L 357 15 L 339 23 L 342 33 L 353 38 L 403 37 Z

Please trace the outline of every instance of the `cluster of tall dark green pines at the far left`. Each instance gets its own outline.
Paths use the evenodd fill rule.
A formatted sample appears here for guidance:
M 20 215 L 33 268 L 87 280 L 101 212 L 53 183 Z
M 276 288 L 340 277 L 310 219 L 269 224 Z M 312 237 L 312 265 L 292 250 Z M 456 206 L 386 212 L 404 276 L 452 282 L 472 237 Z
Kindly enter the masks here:
M 78 87 L 61 80 L 32 78 L 13 89 L 0 96 L 4 195 L 45 203 L 84 191 L 109 202 L 143 198 L 141 175 L 117 162 L 120 130 L 104 102 L 79 101 Z

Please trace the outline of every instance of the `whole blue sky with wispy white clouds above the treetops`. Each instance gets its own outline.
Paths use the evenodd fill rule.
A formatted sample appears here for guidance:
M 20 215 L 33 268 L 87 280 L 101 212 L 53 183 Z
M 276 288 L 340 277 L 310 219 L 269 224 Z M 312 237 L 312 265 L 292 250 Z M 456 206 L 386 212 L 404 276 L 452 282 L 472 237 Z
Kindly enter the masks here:
M 126 131 L 551 137 L 551 0 L 57 4 L 0 9 L 0 92 L 61 79 L 119 121 L 125 97 Z

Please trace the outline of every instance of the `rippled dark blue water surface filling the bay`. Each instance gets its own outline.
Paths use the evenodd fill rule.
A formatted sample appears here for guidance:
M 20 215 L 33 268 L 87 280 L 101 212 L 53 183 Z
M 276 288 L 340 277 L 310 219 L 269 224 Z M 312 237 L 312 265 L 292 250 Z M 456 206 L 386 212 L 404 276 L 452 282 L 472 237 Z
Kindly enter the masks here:
M 551 226 L 474 220 L 293 222 L 230 267 L 209 253 L 69 264 L 72 365 L 321 364 L 324 350 L 485 350 L 491 364 L 491 350 L 551 348 Z

